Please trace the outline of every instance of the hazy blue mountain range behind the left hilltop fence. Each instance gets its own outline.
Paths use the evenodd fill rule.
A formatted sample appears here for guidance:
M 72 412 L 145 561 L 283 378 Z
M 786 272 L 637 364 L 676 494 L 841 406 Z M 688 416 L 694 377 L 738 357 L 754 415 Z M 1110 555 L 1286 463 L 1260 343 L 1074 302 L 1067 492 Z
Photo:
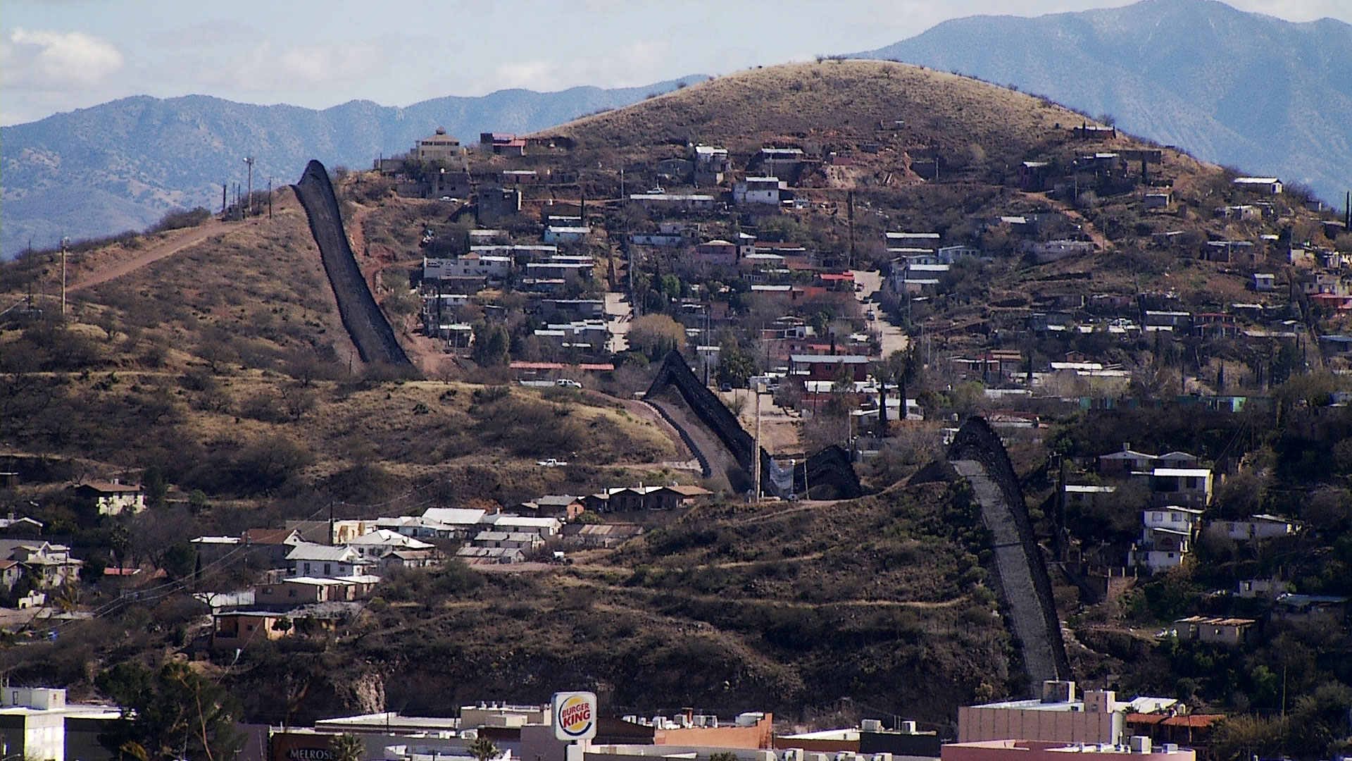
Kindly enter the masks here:
M 0 256 L 142 229 L 176 207 L 219 209 L 222 183 L 295 181 L 306 162 L 369 167 L 445 127 L 464 142 L 481 131 L 529 133 L 706 79 L 560 92 L 504 89 L 406 108 L 353 100 L 333 108 L 251 106 L 204 95 L 123 97 L 0 129 Z

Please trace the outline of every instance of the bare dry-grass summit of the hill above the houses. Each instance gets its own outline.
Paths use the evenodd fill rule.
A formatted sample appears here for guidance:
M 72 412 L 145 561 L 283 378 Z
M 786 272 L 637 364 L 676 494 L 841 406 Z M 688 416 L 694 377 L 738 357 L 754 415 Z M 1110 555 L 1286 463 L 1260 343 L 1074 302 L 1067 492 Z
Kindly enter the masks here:
M 972 79 L 887 61 L 827 61 L 756 68 L 642 103 L 569 122 L 577 150 L 642 153 L 685 141 L 758 150 L 776 135 L 940 149 L 980 146 L 1015 156 L 1055 125 L 1082 115 L 1048 100 Z M 894 129 L 903 121 L 900 129 Z

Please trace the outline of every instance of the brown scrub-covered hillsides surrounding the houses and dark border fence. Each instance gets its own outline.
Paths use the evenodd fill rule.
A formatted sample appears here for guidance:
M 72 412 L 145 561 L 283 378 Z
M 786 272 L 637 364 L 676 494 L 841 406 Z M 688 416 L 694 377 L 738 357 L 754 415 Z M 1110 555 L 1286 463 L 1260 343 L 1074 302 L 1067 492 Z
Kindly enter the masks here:
M 104 611 L 95 623 L 62 624 L 55 643 L 30 638 L 22 647 L 0 650 L 0 670 L 11 669 L 12 678 L 89 689 L 89 676 L 115 659 L 197 654 L 197 668 L 235 688 L 251 719 L 274 723 L 345 711 L 446 714 L 465 701 L 535 701 L 558 687 L 591 685 L 608 710 L 621 712 L 672 705 L 764 708 L 817 726 L 853 720 L 868 705 L 918 718 L 948 734 L 957 705 L 1026 695 L 1029 685 L 988 581 L 990 539 L 977 527 L 967 487 L 950 482 L 948 469 L 926 467 L 938 456 L 941 428 L 952 416 L 1009 413 L 1006 405 L 1025 402 L 988 399 L 983 382 L 1018 391 L 1022 380 L 1000 379 L 998 371 L 995 378 L 979 376 L 950 360 L 1003 348 L 1018 353 L 1019 375 L 1025 356 L 1045 376 L 1052 375 L 1042 372 L 1049 362 L 1072 355 L 1083 355 L 1086 364 L 1102 360 L 1124 368 L 1114 370 L 1114 378 L 1121 386 L 1130 382 L 1128 391 L 1109 395 L 1072 372 L 1063 385 L 1045 379 L 1040 398 L 1013 410 L 1019 443 L 1011 447 L 1011 459 L 1044 536 L 1055 520 L 1048 502 L 1057 478 L 1053 454 L 1094 462 L 1117 441 L 1151 439 L 1152 451 L 1190 447 L 1209 460 L 1252 455 L 1255 470 L 1276 473 L 1279 487 L 1261 508 L 1237 502 L 1234 515 L 1272 509 L 1303 517 L 1301 504 L 1317 482 L 1311 479 L 1328 477 L 1310 475 L 1321 470 L 1318 458 L 1326 456 L 1334 436 L 1352 429 L 1334 418 L 1341 416 L 1336 410 L 1328 425 L 1315 425 L 1326 412 L 1317 405 L 1334 387 L 1332 375 L 1295 374 L 1302 356 L 1295 343 L 1263 332 L 1278 325 L 1294 336 L 1297 329 L 1352 322 L 1347 310 L 1302 314 L 1301 305 L 1288 299 L 1301 292 L 1302 274 L 1315 272 L 1315 252 L 1332 256 L 1324 251 L 1334 244 L 1330 238 L 1340 245 L 1352 238 L 1337 236 L 1337 225 L 1317 218 L 1294 194 L 1255 198 L 1255 191 L 1236 188 L 1220 167 L 1128 134 L 1076 130 L 1086 122 L 1046 99 L 950 73 L 883 61 L 823 61 L 740 72 L 588 116 L 548 130 L 558 138 L 553 146 L 533 141 L 525 156 L 477 153 L 469 161 L 479 177 L 533 169 L 576 176 L 576 183 L 523 183 L 521 211 L 488 222 L 502 227 L 489 237 L 534 246 L 545 236 L 542 217 L 576 209 L 592 229 L 558 251 L 589 255 L 595 267 L 589 279 L 557 278 L 550 306 L 544 292 L 531 290 L 538 282 L 511 274 L 511 257 L 502 257 L 508 260 L 508 275 L 498 282 L 466 278 L 472 292 L 425 294 L 457 297 L 462 305 L 438 316 L 470 322 L 485 343 L 499 345 L 498 352 L 483 353 L 483 367 L 473 353 L 448 351 L 445 337 L 416 334 L 419 291 L 412 286 L 425 252 L 468 251 L 475 240 L 468 230 L 477 223 L 473 214 L 483 210 L 485 195 L 472 203 L 410 199 L 396 194 L 392 177 L 376 172 L 337 177 L 362 276 L 391 317 L 400 345 L 430 380 L 392 378 L 352 359 L 289 190 L 274 199 L 272 218 L 199 221 L 199 227 L 80 252 L 73 278 L 92 284 L 74 292 L 70 320 L 37 320 L 16 309 L 0 322 L 0 404 L 5 405 L 0 417 L 5 432 L 15 433 L 5 436 L 4 454 L 31 466 L 28 482 L 5 496 L 19 505 L 39 501 L 41 517 L 61 521 L 89 557 L 115 552 L 120 561 L 130 552 L 147 567 L 161 567 L 165 547 L 184 547 L 188 536 L 238 535 L 245 527 L 316 517 L 330 508 L 339 517 L 411 515 L 429 505 L 492 506 L 487 500 L 514 505 L 541 494 L 595 494 L 635 482 L 698 482 L 695 473 L 672 462 L 690 460 L 694 452 L 652 408 L 631 398 L 652 380 L 652 360 L 660 356 L 653 349 L 713 337 L 719 352 L 727 352 L 723 356 L 741 355 L 742 367 L 733 370 L 745 371 L 735 389 L 742 391 L 750 374 L 796 362 L 772 357 L 763 332 L 786 317 L 814 330 L 821 326 L 817 336 L 831 333 L 827 348 L 808 351 L 834 351 L 837 339 L 848 339 L 873 357 L 880 353 L 880 322 L 904 328 L 915 345 L 913 359 L 903 359 L 914 375 L 906 395 L 918 399 L 925 420 L 896 421 L 879 456 L 859 466 L 873 489 L 859 500 L 748 506 L 725 489 L 713 504 L 685 513 L 622 515 L 621 520 L 648 521 L 650 531 L 617 550 L 568 546 L 572 565 L 396 570 L 377 590 L 379 599 L 338 620 L 331 632 L 250 645 L 238 662 L 233 650 L 211 657 L 200 639 L 195 645 L 195 636 L 208 631 L 200 607 L 184 594 L 166 596 Z M 658 169 L 660 162 L 685 156 L 688 141 L 729 149 L 727 177 L 718 190 L 699 188 L 721 194 L 719 200 L 704 209 L 644 209 L 644 199 L 617 200 L 621 192 L 658 183 L 673 194 L 694 190 L 679 177 L 668 181 Z M 765 145 L 799 148 L 808 156 L 784 188 L 791 198 L 723 209 L 722 194 L 758 171 L 754 162 Z M 1141 167 L 1138 161 L 1156 150 L 1159 162 Z M 1145 158 L 1126 161 L 1124 154 Z M 1025 161 L 1045 169 L 1046 181 L 1023 187 Z M 1146 194 L 1169 199 L 1146 209 Z M 1230 215 L 1234 204 L 1248 206 L 1245 215 Z M 661 223 L 690 230 L 700 242 L 754 230 L 772 246 L 802 246 L 804 253 L 794 256 L 803 260 L 803 269 L 788 272 L 783 286 L 788 298 L 773 302 L 752 290 L 754 272 L 744 276 L 734 267 L 692 261 L 695 245 L 683 241 L 660 249 L 630 245 L 623 237 Z M 942 274 L 922 283 L 923 290 L 911 292 L 903 280 L 906 294 L 896 286 L 865 294 L 849 282 L 853 272 L 844 279 L 841 271 L 873 269 L 867 272 L 869 282 L 895 283 L 892 275 L 910 267 L 909 259 L 888 251 L 884 230 L 933 232 L 933 245 L 968 253 L 934 271 Z M 1214 256 L 1207 246 L 1213 240 L 1248 242 L 1252 252 L 1237 253 L 1234 261 L 1203 259 Z M 1073 245 L 1057 249 L 1064 244 Z M 1297 267 L 1290 252 L 1297 249 L 1299 259 L 1298 246 L 1305 244 L 1309 261 Z M 1048 249 L 1040 245 L 1051 245 L 1055 256 L 1042 256 Z M 110 265 L 126 272 L 101 280 L 99 274 Z M 37 306 L 54 317 L 58 267 L 50 253 L 0 267 L 4 303 L 22 306 L 26 294 L 35 292 Z M 1251 292 L 1255 272 L 1278 272 L 1284 282 L 1272 291 Z M 630 279 L 633 292 L 619 292 Z M 834 283 L 834 290 L 818 283 Z M 794 301 L 792 287 L 803 294 L 813 288 L 814 295 Z M 713 336 L 707 322 L 704 334 L 696 321 L 676 324 L 688 318 L 684 306 L 704 294 L 708 309 L 717 305 L 723 313 Z M 1110 320 L 1114 326 L 1142 320 L 1142 310 L 1151 309 L 1142 305 L 1153 302 L 1141 301 L 1141 294 L 1157 299 L 1163 305 L 1157 309 L 1221 313 L 1228 333 L 1220 339 L 1237 339 L 1238 325 L 1261 330 L 1252 341 L 1213 340 L 1191 329 L 1159 330 L 1153 340 L 1138 326 L 1130 336 L 1125 329 L 1110 333 Z M 1094 297 L 1110 303 L 1099 309 Z M 1263 303 L 1240 306 L 1245 314 L 1256 310 L 1256 317 L 1226 313 L 1236 302 L 1255 299 Z M 546 345 L 539 328 L 569 318 L 554 317 L 562 314 L 564 301 L 641 305 L 642 317 L 665 320 L 676 339 L 645 349 L 635 337 L 627 351 L 614 352 L 608 341 L 585 351 L 572 341 Z M 1057 311 L 1078 321 L 1076 329 L 1034 328 L 1036 316 Z M 856 341 L 856 336 L 863 337 Z M 1318 343 L 1306 347 L 1313 348 L 1310 366 L 1318 367 Z M 514 374 L 507 359 L 579 357 L 619 367 L 587 375 L 585 390 L 507 383 Z M 1278 372 L 1279 360 L 1286 375 L 1274 379 L 1270 374 Z M 715 382 L 722 370 L 719 362 Z M 1278 386 L 1287 376 L 1290 385 Z M 1151 408 L 1141 414 L 1124 412 L 1110 424 L 1102 422 L 1113 418 L 1079 406 L 1080 397 L 1095 393 L 1124 406 L 1187 391 L 1211 394 L 1210 385 L 1221 386 L 1222 378 L 1226 391 L 1255 402 L 1280 397 L 1286 406 L 1279 416 L 1255 405 L 1242 417 L 1213 410 L 1205 418 Z M 848 389 L 845 378 L 833 379 L 830 398 L 811 405 L 804 404 L 800 378 L 783 380 L 788 393 L 776 394 L 784 408 L 777 433 L 792 433 L 775 454 L 863 433 L 848 416 L 867 394 L 840 390 Z M 735 391 L 723 397 L 730 406 Z M 741 397 L 745 404 L 746 394 Z M 1038 422 L 1017 417 L 1032 409 L 1041 416 Z M 1198 431 L 1186 437 L 1152 422 L 1152 416 L 1188 421 Z M 691 447 L 700 445 L 691 440 Z M 1279 445 L 1282 458 L 1271 450 L 1261 455 L 1261 448 Z M 539 458 L 566 458 L 571 464 L 544 467 Z M 1352 473 L 1347 462 L 1338 467 Z M 158 475 L 188 494 L 135 521 L 91 520 L 62 490 L 91 474 Z M 1334 562 L 1326 550 L 1334 531 L 1347 535 L 1352 494 L 1333 502 L 1325 505 L 1329 534 L 1310 538 L 1313 559 L 1301 569 L 1303 590 L 1343 589 L 1337 580 L 1347 563 Z M 1086 546 L 1119 535 L 1130 543 L 1140 527 L 1133 517 L 1124 528 L 1121 519 L 1138 510 L 1138 502 L 1118 509 L 1115 523 L 1102 521 L 1107 528 L 1072 517 L 1076 528 L 1090 527 L 1083 531 Z M 611 513 L 600 517 L 615 520 Z M 1337 542 L 1337 557 L 1345 557 L 1352 543 Z M 1105 557 L 1115 566 L 1124 554 Z M 1197 707 L 1248 711 L 1249 704 L 1233 696 L 1264 672 L 1248 665 L 1241 670 L 1237 655 L 1224 680 L 1194 680 L 1201 666 L 1188 664 L 1194 653 L 1201 653 L 1201 664 L 1205 653 L 1179 647 L 1165 659 L 1156 638 L 1141 632 L 1160 631 L 1195 611 L 1226 612 L 1226 601 L 1209 590 L 1252 578 L 1260 566 L 1268 573 L 1274 562 L 1213 563 L 1195 577 L 1184 566 L 1163 580 L 1142 578 L 1141 589 L 1117 607 L 1091 607 L 1057 577 L 1053 592 L 1076 676 L 1107 681 L 1118 674 L 1124 695 L 1136 689 L 1183 695 L 1191 682 L 1188 697 Z M 180 566 L 178 573 L 187 578 L 192 571 Z M 212 569 L 199 584 L 224 586 L 247 573 Z M 1329 581 L 1314 586 L 1305 575 Z M 84 589 L 91 607 L 114 596 L 107 586 Z M 1330 654 L 1330 664 L 1347 653 L 1340 636 L 1330 635 L 1338 640 L 1318 650 Z M 1268 676 L 1276 673 L 1279 650 L 1263 650 Z M 1313 664 L 1313 647 L 1310 653 Z M 1302 700 L 1344 674 L 1313 666 L 1293 681 L 1293 697 Z M 842 711 L 841 697 L 860 707 Z M 1261 708 L 1270 705 L 1272 700 Z

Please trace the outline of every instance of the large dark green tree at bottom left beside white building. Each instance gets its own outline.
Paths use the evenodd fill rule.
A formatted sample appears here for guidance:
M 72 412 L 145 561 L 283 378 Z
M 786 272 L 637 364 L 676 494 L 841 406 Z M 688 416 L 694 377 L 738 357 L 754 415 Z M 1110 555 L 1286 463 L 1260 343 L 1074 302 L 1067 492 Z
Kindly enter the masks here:
M 187 664 L 151 670 L 124 661 L 100 673 L 95 685 L 122 708 L 124 720 L 110 722 L 99 735 L 119 756 L 230 761 L 243 745 L 234 731 L 239 704 Z

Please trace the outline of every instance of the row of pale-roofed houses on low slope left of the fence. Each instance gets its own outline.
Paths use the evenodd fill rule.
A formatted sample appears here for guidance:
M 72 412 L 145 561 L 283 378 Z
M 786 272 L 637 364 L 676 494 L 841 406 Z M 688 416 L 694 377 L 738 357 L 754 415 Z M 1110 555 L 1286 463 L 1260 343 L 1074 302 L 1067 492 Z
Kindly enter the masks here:
M 634 523 L 595 523 L 585 515 L 680 509 L 713 493 L 699 486 L 633 486 L 585 497 L 546 494 L 503 508 L 427 508 L 416 516 L 293 520 L 280 529 L 192 540 L 201 562 L 227 559 L 265 570 L 242 593 L 204 596 L 215 626 L 211 647 L 243 647 L 277 639 L 297 622 L 330 627 L 368 599 L 383 577 L 426 569 L 456 557 L 468 565 L 554 561 L 564 550 L 614 547 L 638 536 Z

